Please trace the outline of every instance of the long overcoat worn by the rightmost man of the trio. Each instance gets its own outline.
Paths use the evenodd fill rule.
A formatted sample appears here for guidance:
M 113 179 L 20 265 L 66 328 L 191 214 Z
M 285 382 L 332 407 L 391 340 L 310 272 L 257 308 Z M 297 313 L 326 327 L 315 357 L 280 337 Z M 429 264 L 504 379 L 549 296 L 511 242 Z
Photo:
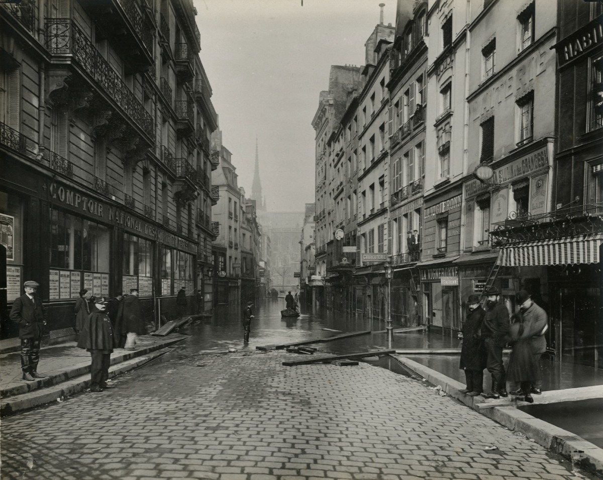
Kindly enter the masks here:
M 514 342 L 509 356 L 507 379 L 511 382 L 534 382 L 540 376 L 540 365 L 532 352 L 532 336 L 541 328 L 533 318 L 520 318 L 511 325 L 510 338 Z

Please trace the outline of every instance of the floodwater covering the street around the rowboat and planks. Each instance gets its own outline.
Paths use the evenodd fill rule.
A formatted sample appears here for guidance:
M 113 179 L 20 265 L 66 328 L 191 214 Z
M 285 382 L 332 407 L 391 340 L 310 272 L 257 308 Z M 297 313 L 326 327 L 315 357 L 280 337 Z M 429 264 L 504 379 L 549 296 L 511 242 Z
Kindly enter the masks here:
M 282 298 L 264 300 L 254 306 L 256 318 L 251 323 L 248 346 L 243 344 L 242 307 L 216 308 L 213 317 L 198 321 L 182 330 L 182 333 L 191 335 L 191 338 L 177 348 L 181 353 L 216 352 L 229 348 L 255 350 L 257 346 L 295 343 L 341 333 L 385 330 L 385 323 L 382 321 L 366 319 L 362 315 L 326 310 L 308 312 L 302 308 L 300 317 L 282 318 L 280 311 L 283 308 L 285 308 L 285 302 Z M 399 326 L 394 324 L 394 329 L 397 327 Z M 450 349 L 458 346 L 459 343 L 456 339 L 441 336 L 429 338 L 423 333 L 394 333 L 392 344 L 393 349 Z M 321 352 L 343 355 L 368 350 L 384 350 L 388 348 L 388 345 L 384 332 L 318 343 L 314 347 Z

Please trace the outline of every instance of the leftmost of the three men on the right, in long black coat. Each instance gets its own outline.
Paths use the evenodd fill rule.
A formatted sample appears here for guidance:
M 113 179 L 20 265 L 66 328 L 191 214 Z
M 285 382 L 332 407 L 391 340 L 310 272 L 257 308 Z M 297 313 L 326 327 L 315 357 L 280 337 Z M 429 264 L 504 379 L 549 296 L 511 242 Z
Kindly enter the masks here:
M 475 397 L 484 391 L 485 352 L 481 338 L 481 327 L 485 311 L 479 305 L 478 295 L 471 294 L 467 298 L 467 317 L 459 338 L 463 339 L 461 347 L 461 363 L 459 368 L 465 371 L 467 388 L 459 390 Z

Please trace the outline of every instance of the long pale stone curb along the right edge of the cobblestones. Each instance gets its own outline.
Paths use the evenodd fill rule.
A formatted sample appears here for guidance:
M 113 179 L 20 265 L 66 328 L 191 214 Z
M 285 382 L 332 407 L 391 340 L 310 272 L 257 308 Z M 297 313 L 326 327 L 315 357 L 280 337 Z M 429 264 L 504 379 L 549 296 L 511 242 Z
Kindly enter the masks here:
M 492 408 L 478 408 L 479 403 L 486 402 L 481 397 L 470 397 L 459 390 L 464 388 L 461 382 L 452 379 L 443 373 L 432 370 L 425 365 L 401 356 L 393 356 L 409 370 L 424 377 L 434 385 L 440 385 L 442 390 L 450 397 L 473 408 L 482 415 L 504 425 L 510 430 L 520 432 L 531 438 L 539 445 L 560 453 L 570 459 L 573 465 L 603 477 L 603 449 L 572 434 L 551 423 L 523 412 L 514 406 L 494 406 Z

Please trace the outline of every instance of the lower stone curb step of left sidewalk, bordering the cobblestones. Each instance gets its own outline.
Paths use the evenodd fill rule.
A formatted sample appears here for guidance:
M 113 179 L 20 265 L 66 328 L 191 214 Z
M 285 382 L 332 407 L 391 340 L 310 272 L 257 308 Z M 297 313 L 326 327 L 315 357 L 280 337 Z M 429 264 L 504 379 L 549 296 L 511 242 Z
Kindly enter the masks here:
M 134 370 L 134 368 L 140 367 L 164 355 L 168 351 L 168 349 L 162 349 L 152 352 L 150 355 L 137 356 L 136 358 L 120 362 L 109 369 L 109 378 L 113 378 L 127 371 Z M 82 391 L 86 390 L 89 385 L 89 375 L 82 375 L 63 382 L 60 385 L 56 385 L 54 388 L 44 388 L 42 390 L 31 391 L 25 394 L 10 397 L 2 401 L 2 406 L 0 407 L 0 417 L 14 415 L 17 412 L 30 410 L 32 408 L 46 405 L 46 403 L 56 402 L 59 399 L 62 401 L 62 399 L 65 397 L 70 397 L 77 393 L 81 393 Z

